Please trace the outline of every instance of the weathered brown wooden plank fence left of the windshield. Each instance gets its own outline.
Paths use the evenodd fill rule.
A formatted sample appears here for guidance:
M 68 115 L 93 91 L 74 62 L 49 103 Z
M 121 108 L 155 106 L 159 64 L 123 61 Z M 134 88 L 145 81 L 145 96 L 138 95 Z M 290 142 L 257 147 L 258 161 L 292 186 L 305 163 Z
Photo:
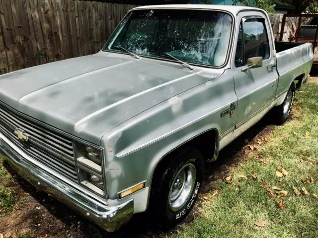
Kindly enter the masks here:
M 99 51 L 135 5 L 0 0 L 0 73 Z

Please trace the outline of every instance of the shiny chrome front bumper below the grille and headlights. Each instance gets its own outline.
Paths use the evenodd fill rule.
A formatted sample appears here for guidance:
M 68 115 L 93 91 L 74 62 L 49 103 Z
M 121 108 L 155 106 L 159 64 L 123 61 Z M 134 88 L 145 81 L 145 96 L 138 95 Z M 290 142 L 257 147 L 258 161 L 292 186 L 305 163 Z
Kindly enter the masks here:
M 13 169 L 37 189 L 51 194 L 108 232 L 118 230 L 133 216 L 133 200 L 114 207 L 106 206 L 79 188 L 70 186 L 63 179 L 31 163 L 30 158 L 2 133 L 0 133 L 0 150 L 7 155 L 7 160 Z

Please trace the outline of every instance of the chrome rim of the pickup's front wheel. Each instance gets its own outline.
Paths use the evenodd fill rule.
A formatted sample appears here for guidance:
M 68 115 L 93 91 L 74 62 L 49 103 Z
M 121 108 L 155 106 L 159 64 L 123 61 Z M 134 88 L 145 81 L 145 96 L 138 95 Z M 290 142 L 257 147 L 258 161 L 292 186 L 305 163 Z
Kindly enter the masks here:
M 173 211 L 180 210 L 191 196 L 196 179 L 196 169 L 193 164 L 184 165 L 173 179 L 169 192 L 169 205 Z

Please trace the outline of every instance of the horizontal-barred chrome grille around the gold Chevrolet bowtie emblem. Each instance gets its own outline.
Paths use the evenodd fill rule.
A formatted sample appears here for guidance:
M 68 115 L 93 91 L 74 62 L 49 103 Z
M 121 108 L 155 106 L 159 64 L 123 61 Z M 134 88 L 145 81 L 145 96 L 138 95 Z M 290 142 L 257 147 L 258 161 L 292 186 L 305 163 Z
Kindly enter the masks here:
M 29 137 L 20 141 L 14 130 L 20 129 Z M 23 118 L 0 105 L 0 131 L 33 159 L 52 170 L 77 181 L 73 141 L 48 128 Z

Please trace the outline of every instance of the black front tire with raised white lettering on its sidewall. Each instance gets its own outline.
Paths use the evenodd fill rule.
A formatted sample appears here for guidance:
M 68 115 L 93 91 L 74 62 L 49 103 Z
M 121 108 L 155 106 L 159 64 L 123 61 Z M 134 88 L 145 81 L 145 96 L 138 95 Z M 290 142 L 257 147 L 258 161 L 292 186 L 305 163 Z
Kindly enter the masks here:
M 157 178 L 154 178 L 152 184 L 152 196 L 150 200 L 152 217 L 155 217 L 157 224 L 165 228 L 175 226 L 186 218 L 198 198 L 204 177 L 204 158 L 197 149 L 190 147 L 182 149 L 175 153 L 174 156 L 171 156 L 170 159 L 169 161 L 171 162 L 165 165 L 165 169 L 161 168 L 160 172 L 155 174 Z M 183 199 L 185 202 L 180 203 L 179 208 L 178 206 L 173 207 L 175 204 L 171 203 L 170 200 L 172 196 L 170 192 L 174 191 L 172 184 L 175 185 L 180 181 L 175 179 L 177 179 L 177 175 L 180 177 L 180 173 L 182 174 L 181 171 L 185 171 L 186 169 L 189 169 L 189 172 L 188 174 L 184 173 L 184 178 L 189 178 L 188 176 L 193 172 L 193 168 L 195 168 L 195 176 L 192 176 L 192 181 L 195 177 L 193 186 L 191 186 L 191 189 L 185 189 L 189 186 L 182 186 L 182 191 L 190 191 L 184 194 L 189 195 L 185 196 L 187 198 Z M 185 184 L 192 183 L 185 182 Z

